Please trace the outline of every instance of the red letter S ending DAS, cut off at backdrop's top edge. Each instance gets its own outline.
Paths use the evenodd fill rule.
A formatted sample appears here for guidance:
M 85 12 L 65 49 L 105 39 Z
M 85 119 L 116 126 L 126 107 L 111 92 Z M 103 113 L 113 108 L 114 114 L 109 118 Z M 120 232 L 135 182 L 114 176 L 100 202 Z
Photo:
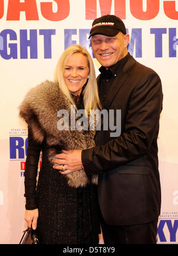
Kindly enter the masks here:
M 44 18 L 51 21 L 64 20 L 70 12 L 69 0 L 53 0 L 58 5 L 58 11 L 53 13 L 52 2 L 42 2 L 41 11 Z

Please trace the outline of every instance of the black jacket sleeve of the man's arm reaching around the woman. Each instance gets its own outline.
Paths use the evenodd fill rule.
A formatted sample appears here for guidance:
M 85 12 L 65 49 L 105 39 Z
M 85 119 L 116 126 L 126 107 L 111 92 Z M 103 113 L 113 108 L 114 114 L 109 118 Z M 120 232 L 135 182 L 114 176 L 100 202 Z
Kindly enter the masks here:
M 154 72 L 135 86 L 122 134 L 105 145 L 82 151 L 85 173 L 103 172 L 127 164 L 148 152 L 157 140 L 163 93 Z

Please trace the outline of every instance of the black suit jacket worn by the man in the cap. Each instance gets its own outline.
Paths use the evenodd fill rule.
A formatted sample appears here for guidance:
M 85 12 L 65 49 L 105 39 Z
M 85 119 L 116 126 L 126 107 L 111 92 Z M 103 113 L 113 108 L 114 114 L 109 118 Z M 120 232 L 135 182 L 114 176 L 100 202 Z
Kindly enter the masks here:
M 89 176 L 98 173 L 98 201 L 106 223 L 147 223 L 159 216 L 161 205 L 157 157 L 161 80 L 131 56 L 119 74 L 115 66 L 113 70 L 116 77 L 103 107 L 121 110 L 121 134 L 112 138 L 112 130 L 98 130 L 96 147 L 82 151 L 82 164 Z

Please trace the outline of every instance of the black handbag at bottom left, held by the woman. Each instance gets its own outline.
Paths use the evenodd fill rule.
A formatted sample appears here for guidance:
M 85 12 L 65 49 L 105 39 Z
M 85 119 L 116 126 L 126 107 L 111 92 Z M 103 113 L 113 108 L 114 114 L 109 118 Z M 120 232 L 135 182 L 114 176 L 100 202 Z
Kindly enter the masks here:
M 26 229 L 24 230 L 24 234 L 20 240 L 20 243 L 21 245 L 37 245 L 39 244 L 39 239 L 37 238 L 37 235 L 36 235 L 36 230 L 34 229 Z

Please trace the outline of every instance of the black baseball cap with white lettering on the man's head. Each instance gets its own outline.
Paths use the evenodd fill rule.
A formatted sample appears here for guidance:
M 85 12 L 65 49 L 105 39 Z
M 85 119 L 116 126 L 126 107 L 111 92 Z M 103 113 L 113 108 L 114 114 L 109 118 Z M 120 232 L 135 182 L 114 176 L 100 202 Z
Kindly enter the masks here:
M 126 34 L 125 24 L 115 15 L 104 15 L 93 21 L 90 36 L 100 34 L 105 36 L 116 36 L 119 31 Z

